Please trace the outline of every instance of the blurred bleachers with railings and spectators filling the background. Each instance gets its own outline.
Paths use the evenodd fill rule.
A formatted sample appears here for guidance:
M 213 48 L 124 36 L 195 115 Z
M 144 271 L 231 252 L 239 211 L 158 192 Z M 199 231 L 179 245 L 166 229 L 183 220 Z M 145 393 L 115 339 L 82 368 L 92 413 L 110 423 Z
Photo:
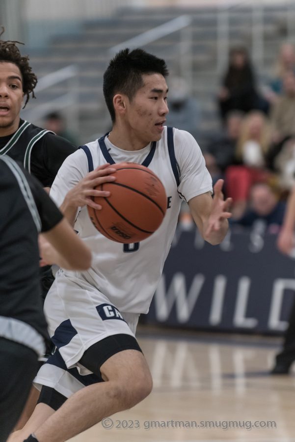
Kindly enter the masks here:
M 294 1 L 2 0 L 4 39 L 39 83 L 23 118 L 76 145 L 110 129 L 109 57 L 141 46 L 170 69 L 167 125 L 198 141 L 233 198 L 232 223 L 279 226 L 295 183 Z M 183 205 L 180 224 L 192 227 Z

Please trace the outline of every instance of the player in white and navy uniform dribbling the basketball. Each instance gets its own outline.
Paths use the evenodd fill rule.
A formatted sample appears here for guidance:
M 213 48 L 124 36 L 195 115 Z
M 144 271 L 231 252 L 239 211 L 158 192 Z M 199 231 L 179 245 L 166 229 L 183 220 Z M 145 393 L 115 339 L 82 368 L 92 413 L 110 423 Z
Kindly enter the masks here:
M 45 313 L 57 350 L 35 379 L 42 387 L 39 403 L 13 441 L 65 441 L 143 400 L 152 379 L 134 333 L 160 280 L 182 199 L 206 241 L 219 244 L 227 232 L 230 199 L 223 200 L 222 180 L 212 198 L 197 142 L 165 127 L 167 75 L 164 60 L 141 49 L 117 54 L 104 75 L 112 130 L 70 155 L 54 180 L 51 196 L 92 249 L 93 261 L 89 271 L 56 275 Z M 111 164 L 124 161 L 153 170 L 167 194 L 160 228 L 133 245 L 101 235 L 86 207 L 100 209 L 91 200 L 98 194 L 97 168 L 106 167 L 109 181 L 115 180 Z

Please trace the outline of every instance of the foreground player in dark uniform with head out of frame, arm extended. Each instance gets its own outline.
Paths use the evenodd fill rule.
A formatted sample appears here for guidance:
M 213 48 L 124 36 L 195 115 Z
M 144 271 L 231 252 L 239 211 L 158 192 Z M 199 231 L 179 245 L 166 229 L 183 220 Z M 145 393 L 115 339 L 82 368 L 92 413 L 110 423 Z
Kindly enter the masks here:
M 38 355 L 49 338 L 39 282 L 38 233 L 59 265 L 87 269 L 85 247 L 40 184 L 6 155 L 0 157 L 0 442 L 27 400 Z M 74 261 L 73 261 L 74 259 Z

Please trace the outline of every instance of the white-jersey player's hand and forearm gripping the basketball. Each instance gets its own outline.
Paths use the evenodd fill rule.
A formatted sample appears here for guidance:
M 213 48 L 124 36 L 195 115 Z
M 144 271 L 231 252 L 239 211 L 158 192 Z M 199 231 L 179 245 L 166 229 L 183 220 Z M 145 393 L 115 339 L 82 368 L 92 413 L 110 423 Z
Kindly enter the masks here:
M 100 210 L 100 204 L 96 204 L 92 200 L 92 196 L 109 196 L 106 191 L 95 190 L 95 187 L 110 181 L 115 181 L 115 177 L 111 175 L 115 169 L 109 164 L 97 167 L 93 172 L 88 173 L 76 186 L 74 186 L 65 196 L 60 206 L 61 212 L 71 225 L 74 225 L 78 207 L 88 204 L 94 209 Z

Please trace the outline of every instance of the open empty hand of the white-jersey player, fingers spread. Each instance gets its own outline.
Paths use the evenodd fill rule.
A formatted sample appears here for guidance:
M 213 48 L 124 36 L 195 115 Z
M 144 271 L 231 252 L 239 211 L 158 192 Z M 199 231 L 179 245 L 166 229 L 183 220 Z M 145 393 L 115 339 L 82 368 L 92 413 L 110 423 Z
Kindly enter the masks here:
M 232 214 L 229 212 L 232 198 L 226 198 L 222 193 L 223 180 L 218 180 L 213 188 L 214 197 L 212 202 L 211 213 L 208 219 L 208 225 L 206 229 L 206 236 L 209 236 L 212 232 L 217 232 L 222 227 L 224 220 L 231 218 Z

